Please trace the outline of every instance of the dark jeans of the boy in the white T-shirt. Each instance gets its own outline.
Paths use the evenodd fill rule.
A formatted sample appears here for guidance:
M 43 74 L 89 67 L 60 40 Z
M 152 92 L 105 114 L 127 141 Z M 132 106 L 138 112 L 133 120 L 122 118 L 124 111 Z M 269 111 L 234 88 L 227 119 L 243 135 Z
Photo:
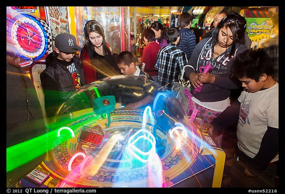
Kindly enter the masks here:
M 233 160 L 231 167 L 231 183 L 230 187 L 259 187 L 274 188 L 277 164 L 268 165 L 257 177 L 245 177 L 243 175 L 245 162 L 237 157 Z

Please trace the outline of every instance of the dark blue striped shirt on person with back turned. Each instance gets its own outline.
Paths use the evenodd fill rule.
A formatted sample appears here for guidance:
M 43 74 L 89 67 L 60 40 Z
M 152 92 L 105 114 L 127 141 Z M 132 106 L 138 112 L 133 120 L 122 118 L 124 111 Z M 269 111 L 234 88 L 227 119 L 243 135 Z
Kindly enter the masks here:
M 196 46 L 196 36 L 194 32 L 188 28 L 182 28 L 180 30 L 180 34 L 181 38 L 178 44 L 178 48 L 186 53 L 187 59 L 189 60 Z

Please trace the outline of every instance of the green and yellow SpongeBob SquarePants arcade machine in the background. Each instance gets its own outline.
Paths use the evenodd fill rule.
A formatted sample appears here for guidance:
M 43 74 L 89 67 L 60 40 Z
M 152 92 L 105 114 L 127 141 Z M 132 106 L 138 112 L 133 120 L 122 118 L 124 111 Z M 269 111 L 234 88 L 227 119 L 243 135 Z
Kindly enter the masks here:
M 246 32 L 251 39 L 250 47 L 254 49 L 263 47 L 264 41 L 270 39 L 273 12 L 241 9 L 240 15 L 246 19 Z

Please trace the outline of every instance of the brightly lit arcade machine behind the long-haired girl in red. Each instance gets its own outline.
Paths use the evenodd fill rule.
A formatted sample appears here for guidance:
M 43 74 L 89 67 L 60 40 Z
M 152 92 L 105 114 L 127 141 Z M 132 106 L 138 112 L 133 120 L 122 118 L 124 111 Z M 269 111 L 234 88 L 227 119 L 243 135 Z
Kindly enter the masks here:
M 68 6 L 70 34 L 85 45 L 84 27 L 87 21 L 97 20 L 104 28 L 106 42 L 112 53 L 130 50 L 129 7 L 120 6 Z

